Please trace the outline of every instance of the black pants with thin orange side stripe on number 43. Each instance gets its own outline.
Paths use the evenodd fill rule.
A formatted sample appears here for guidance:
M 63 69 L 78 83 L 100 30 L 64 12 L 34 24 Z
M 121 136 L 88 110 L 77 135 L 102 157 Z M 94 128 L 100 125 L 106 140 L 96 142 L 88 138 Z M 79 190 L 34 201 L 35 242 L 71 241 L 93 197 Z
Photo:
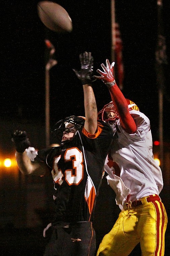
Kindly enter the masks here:
M 76 222 L 53 230 L 44 256 L 94 256 L 95 248 L 92 222 Z

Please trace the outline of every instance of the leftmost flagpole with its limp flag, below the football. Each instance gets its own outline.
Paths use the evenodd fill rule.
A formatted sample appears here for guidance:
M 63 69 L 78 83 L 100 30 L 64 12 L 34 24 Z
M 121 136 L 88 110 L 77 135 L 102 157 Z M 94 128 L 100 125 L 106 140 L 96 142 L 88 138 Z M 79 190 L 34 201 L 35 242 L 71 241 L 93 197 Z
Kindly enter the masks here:
M 45 65 L 45 143 L 46 147 L 50 145 L 50 69 L 57 64 L 54 59 L 55 48 L 48 39 L 45 39 L 47 47 L 47 62 Z

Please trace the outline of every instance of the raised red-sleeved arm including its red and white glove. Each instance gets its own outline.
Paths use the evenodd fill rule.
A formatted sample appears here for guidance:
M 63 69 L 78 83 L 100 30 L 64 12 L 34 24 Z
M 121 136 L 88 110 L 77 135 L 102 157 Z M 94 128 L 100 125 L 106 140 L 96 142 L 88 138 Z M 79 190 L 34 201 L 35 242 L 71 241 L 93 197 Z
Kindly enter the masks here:
M 115 62 L 110 65 L 109 60 L 106 60 L 106 66 L 102 63 L 101 67 L 103 68 L 104 72 L 97 69 L 97 72 L 101 76 L 94 76 L 96 79 L 102 80 L 105 85 L 107 85 L 113 104 L 118 112 L 119 119 L 123 129 L 128 133 L 134 133 L 136 131 L 136 124 L 133 117 L 129 113 L 127 101 L 116 84 L 116 81 L 113 76 L 113 68 Z

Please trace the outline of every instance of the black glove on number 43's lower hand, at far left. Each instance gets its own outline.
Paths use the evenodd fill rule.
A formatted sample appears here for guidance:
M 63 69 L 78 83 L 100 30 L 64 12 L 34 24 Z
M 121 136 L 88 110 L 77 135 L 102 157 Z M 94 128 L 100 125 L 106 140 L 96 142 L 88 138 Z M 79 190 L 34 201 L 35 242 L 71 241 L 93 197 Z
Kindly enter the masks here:
M 16 151 L 19 153 L 23 153 L 26 148 L 30 147 L 26 132 L 18 130 L 14 131 L 12 133 L 12 141 L 14 142 Z

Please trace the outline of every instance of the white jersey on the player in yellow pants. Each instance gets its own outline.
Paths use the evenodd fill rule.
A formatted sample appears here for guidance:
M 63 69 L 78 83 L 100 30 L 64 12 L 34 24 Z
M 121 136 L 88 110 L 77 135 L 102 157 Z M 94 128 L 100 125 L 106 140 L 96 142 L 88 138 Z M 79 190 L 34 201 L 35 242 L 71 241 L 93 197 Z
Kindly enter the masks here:
M 116 202 L 122 209 L 123 203 L 161 192 L 162 172 L 153 157 L 150 120 L 141 112 L 132 110 L 137 129 L 128 134 L 117 121 L 117 132 L 110 155 L 114 162 L 105 161 L 104 170 L 110 175 L 108 182 L 115 190 Z

